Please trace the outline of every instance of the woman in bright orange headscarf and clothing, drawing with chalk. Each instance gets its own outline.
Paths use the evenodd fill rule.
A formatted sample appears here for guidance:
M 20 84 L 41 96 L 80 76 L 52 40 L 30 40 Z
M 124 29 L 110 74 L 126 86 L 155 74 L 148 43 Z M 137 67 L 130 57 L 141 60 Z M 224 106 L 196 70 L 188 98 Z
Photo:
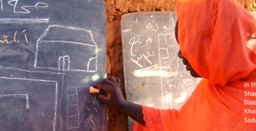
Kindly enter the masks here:
M 181 109 L 127 102 L 114 77 L 96 85 L 110 92 L 98 100 L 137 121 L 133 130 L 256 130 L 255 18 L 234 0 L 180 1 L 177 17 L 179 57 L 204 78 Z

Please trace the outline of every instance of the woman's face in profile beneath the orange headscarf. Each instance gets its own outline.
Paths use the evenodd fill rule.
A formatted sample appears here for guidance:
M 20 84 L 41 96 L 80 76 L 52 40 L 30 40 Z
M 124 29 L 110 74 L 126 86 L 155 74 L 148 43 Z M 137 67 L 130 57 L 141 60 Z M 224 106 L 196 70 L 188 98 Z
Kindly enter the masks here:
M 176 37 L 176 41 L 177 43 L 179 43 L 178 39 L 177 39 L 177 31 L 178 31 L 178 21 L 176 23 L 176 27 L 175 27 L 175 37 Z M 179 50 L 179 52 L 177 53 L 177 56 L 179 56 L 179 58 L 182 59 L 182 62 L 184 65 L 186 65 L 186 69 L 187 71 L 190 71 L 190 75 L 192 77 L 201 77 L 200 75 L 197 74 L 197 72 L 195 72 L 195 70 L 191 67 L 191 65 L 189 64 L 189 61 L 181 54 L 181 51 Z

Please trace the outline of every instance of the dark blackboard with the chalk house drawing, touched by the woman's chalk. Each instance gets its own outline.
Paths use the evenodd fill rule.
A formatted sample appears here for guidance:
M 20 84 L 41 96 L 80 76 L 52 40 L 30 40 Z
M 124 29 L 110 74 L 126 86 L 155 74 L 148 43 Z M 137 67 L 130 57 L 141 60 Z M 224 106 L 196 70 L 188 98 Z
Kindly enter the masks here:
M 0 1 L 1 130 L 108 130 L 102 0 Z

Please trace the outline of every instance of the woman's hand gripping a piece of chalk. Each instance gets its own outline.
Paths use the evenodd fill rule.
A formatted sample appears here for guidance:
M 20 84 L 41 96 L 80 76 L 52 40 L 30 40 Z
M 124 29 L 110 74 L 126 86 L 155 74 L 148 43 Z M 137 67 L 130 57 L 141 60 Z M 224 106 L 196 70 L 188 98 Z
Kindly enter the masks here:
M 123 98 L 123 94 L 120 90 L 120 79 L 111 76 L 100 81 L 95 87 L 108 92 L 107 97 L 98 94 L 96 98 L 111 109 L 120 111 L 127 105 L 127 101 Z

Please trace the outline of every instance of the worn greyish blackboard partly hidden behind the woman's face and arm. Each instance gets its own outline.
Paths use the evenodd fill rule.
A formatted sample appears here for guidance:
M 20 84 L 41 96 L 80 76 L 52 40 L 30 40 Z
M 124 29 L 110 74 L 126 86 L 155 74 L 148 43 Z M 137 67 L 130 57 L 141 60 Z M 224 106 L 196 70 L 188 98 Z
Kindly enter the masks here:
M 130 102 L 180 109 L 201 79 L 177 57 L 176 12 L 134 12 L 121 20 L 125 90 Z M 129 118 L 132 130 L 133 120 Z

